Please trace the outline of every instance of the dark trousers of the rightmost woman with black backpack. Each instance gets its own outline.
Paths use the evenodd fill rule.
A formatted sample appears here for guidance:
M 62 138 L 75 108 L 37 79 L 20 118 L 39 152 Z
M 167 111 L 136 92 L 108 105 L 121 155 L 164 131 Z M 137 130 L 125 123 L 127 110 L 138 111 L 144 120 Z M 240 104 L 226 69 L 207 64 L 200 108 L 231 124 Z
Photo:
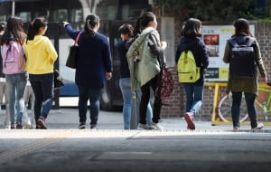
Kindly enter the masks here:
M 251 128 L 257 127 L 257 114 L 255 107 L 256 94 L 244 92 L 245 100 L 247 103 L 248 117 L 250 119 Z M 231 117 L 233 127 L 240 127 L 240 104 L 242 100 L 242 92 L 232 92 L 232 105 L 231 105 Z

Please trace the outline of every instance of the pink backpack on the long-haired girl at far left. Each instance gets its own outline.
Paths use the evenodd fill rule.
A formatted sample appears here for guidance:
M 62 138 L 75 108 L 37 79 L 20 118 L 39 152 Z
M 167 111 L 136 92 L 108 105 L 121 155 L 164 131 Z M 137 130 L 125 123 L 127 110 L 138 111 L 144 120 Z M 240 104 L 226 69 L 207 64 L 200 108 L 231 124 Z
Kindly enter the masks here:
M 14 74 L 23 72 L 25 58 L 20 43 L 10 41 L 2 46 L 3 73 Z

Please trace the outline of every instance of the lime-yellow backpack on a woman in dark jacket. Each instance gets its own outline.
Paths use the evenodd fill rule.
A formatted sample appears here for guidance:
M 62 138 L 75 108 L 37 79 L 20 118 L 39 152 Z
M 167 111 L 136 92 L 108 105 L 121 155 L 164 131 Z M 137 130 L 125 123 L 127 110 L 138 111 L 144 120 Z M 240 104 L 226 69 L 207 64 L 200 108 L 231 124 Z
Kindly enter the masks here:
M 180 82 L 192 83 L 201 78 L 201 68 L 197 66 L 191 51 L 183 51 L 177 62 L 178 78 Z

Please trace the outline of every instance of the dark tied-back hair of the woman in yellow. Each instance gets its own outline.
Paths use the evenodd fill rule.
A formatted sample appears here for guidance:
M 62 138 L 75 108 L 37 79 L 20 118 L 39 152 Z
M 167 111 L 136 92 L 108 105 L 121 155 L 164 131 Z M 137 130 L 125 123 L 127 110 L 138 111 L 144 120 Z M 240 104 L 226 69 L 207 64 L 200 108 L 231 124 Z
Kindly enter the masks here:
M 43 17 L 37 17 L 33 20 L 31 24 L 29 24 L 28 32 L 27 32 L 27 40 L 33 40 L 35 35 L 37 35 L 40 31 L 40 28 L 44 28 L 47 26 L 47 22 Z

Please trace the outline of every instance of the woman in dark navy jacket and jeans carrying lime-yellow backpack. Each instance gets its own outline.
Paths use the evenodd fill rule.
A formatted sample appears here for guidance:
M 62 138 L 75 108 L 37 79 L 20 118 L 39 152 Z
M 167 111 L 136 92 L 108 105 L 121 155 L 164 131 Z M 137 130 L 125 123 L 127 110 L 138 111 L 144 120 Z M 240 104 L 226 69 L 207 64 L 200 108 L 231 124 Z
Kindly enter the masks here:
M 205 44 L 201 40 L 201 21 L 190 18 L 182 29 L 182 38 L 177 47 L 175 62 L 178 63 L 183 51 L 192 51 L 195 62 L 201 68 L 201 78 L 192 83 L 183 83 L 186 94 L 186 112 L 184 119 L 187 122 L 187 129 L 195 129 L 193 117 L 201 109 L 203 100 L 204 73 L 209 65 L 208 53 Z

